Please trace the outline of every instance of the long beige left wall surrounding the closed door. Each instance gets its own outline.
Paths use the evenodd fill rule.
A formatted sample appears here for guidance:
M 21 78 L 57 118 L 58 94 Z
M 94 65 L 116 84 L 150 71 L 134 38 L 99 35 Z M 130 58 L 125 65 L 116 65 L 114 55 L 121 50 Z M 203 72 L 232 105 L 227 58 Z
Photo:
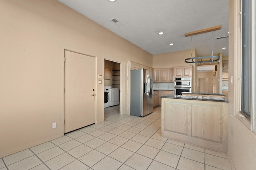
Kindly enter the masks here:
M 0 158 L 63 135 L 64 49 L 96 57 L 96 75 L 104 59 L 152 66 L 151 54 L 57 0 L 1 0 L 0 11 Z M 99 123 L 104 84 L 97 82 Z

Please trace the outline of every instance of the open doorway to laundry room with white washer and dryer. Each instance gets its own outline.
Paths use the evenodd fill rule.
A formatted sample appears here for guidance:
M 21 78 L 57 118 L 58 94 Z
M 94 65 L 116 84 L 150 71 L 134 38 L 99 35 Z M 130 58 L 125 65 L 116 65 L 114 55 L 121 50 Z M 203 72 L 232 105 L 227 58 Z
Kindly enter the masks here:
M 120 63 L 104 60 L 104 115 L 120 114 Z

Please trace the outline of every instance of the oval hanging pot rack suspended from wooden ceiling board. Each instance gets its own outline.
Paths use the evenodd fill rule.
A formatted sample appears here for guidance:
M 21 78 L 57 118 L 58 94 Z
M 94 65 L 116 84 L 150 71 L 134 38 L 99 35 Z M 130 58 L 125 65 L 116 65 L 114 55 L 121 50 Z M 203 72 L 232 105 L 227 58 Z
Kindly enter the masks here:
M 202 29 L 199 31 L 194 31 L 191 33 L 185 33 L 185 37 L 189 36 L 191 37 L 191 56 L 188 59 L 185 59 L 185 63 L 220 63 L 220 56 L 213 55 L 213 50 L 211 53 L 211 56 L 205 56 L 205 57 L 192 57 L 192 35 L 200 34 L 200 33 L 206 33 L 212 31 L 212 44 L 213 44 L 213 31 L 220 29 L 220 25 L 216 27 L 211 27 L 208 29 Z M 202 60 L 202 59 L 208 59 L 208 60 Z

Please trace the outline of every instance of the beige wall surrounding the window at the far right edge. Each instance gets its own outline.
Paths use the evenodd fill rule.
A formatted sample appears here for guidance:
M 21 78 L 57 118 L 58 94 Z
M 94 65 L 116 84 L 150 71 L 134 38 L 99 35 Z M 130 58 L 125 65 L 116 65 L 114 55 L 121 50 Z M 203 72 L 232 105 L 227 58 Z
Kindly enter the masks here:
M 240 65 L 235 61 L 240 59 L 238 45 L 240 23 L 240 0 L 229 0 L 229 80 L 233 76 L 233 84 L 228 84 L 228 115 L 239 112 L 239 72 Z M 238 45 L 238 46 L 237 46 Z M 254 73 L 255 76 L 255 73 Z M 256 167 L 256 135 L 250 131 L 240 117 L 228 117 L 228 155 L 230 162 L 236 170 L 253 170 Z

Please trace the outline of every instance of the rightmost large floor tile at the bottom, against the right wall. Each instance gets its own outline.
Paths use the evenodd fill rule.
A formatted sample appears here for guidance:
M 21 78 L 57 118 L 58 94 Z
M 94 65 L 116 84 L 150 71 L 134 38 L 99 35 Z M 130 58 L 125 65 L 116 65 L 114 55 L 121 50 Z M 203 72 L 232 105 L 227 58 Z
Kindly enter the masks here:
M 205 154 L 205 164 L 224 170 L 231 170 L 228 159 L 214 156 L 211 154 Z

